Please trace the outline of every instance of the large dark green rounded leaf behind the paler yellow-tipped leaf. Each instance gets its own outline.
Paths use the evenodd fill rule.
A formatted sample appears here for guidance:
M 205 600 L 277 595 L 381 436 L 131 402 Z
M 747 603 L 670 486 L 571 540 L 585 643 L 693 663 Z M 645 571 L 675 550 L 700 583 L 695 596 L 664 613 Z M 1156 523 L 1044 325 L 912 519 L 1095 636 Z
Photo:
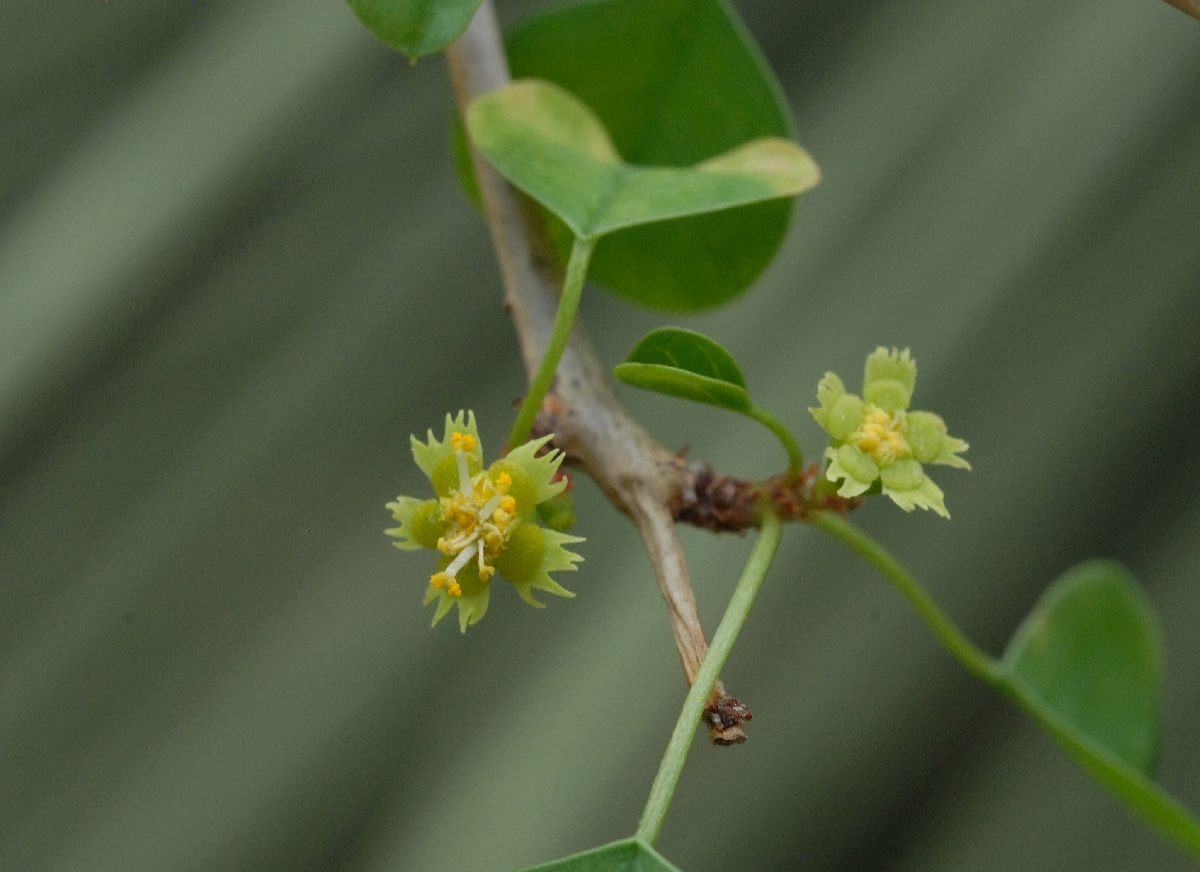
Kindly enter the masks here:
M 515 77 L 574 94 L 634 164 L 685 167 L 793 134 L 779 84 L 722 0 L 576 4 L 526 19 L 506 47 Z M 456 164 L 466 168 L 463 151 Z M 719 306 L 770 263 L 791 210 L 779 199 L 618 230 L 596 246 L 589 278 L 660 309 Z M 566 263 L 571 233 L 553 218 L 548 225 Z

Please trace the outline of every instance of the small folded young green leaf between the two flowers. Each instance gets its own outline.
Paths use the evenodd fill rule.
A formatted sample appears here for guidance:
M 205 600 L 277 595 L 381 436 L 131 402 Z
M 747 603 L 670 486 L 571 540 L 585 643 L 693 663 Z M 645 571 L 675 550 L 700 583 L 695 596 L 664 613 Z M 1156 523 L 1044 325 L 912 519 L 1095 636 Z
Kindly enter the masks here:
M 732 355 L 702 333 L 662 327 L 647 333 L 613 374 L 644 391 L 746 414 L 752 407 Z

